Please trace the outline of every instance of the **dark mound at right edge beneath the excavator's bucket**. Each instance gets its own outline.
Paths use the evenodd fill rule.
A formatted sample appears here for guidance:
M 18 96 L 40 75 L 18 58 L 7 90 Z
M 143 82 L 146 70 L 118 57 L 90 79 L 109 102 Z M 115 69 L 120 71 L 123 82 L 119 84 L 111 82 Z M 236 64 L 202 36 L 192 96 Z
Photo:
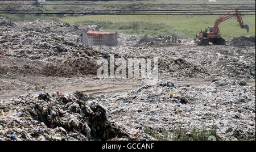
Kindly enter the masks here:
M 234 37 L 231 44 L 237 47 L 255 47 L 255 35 L 250 37 Z

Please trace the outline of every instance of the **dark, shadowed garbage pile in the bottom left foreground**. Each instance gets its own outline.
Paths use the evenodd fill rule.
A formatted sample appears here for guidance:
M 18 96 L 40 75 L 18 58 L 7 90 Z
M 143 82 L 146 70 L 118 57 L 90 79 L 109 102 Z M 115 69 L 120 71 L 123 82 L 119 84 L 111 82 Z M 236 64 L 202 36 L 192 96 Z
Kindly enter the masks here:
M 82 92 L 24 95 L 0 102 L 0 140 L 109 140 L 129 135 Z

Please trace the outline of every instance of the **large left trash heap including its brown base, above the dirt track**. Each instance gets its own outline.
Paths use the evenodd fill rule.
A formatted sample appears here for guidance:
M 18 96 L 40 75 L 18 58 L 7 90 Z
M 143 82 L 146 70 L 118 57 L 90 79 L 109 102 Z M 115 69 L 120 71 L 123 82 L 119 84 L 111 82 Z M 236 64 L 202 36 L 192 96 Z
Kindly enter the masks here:
M 35 20 L 12 22 L 0 18 L 0 57 L 15 64 L 0 65 L 1 75 L 72 77 L 96 75 L 99 52 L 76 39 L 83 30 L 97 26 Z M 17 63 L 18 62 L 18 63 Z M 14 66 L 15 65 L 15 66 Z

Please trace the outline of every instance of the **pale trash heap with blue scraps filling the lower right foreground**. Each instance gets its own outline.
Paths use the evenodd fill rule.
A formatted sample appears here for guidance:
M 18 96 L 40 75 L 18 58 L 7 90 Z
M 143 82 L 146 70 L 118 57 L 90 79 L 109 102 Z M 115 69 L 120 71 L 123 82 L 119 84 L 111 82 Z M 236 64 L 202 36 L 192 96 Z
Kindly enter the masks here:
M 243 84 L 242 86 L 238 83 Z M 138 139 L 144 128 L 160 136 L 175 130 L 214 129 L 220 140 L 255 137 L 255 87 L 222 77 L 210 85 L 177 87 L 170 81 L 137 90 L 97 96 L 110 117 Z

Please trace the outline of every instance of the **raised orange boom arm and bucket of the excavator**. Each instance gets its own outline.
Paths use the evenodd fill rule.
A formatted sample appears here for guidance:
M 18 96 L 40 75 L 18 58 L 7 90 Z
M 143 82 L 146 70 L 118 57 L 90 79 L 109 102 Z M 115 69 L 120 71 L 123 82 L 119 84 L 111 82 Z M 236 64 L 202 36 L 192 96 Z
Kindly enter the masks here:
M 232 14 L 231 12 L 229 12 L 228 14 L 222 16 L 220 19 L 217 19 L 214 24 L 214 29 L 216 29 L 215 31 L 218 31 L 218 26 L 220 25 L 221 22 L 224 22 L 225 20 L 233 18 L 234 16 L 237 16 L 237 20 L 240 24 L 240 27 L 245 28 L 246 31 L 249 32 L 249 26 L 247 24 L 243 24 L 241 12 L 238 11 L 237 9 L 235 13 Z

